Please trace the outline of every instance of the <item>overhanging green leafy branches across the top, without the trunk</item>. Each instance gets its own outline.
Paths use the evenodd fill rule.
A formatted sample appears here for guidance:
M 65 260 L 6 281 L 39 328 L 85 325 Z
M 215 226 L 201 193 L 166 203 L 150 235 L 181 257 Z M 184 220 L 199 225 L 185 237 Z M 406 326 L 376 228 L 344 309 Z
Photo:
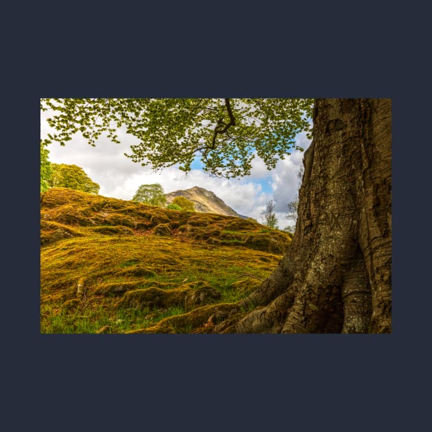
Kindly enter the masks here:
M 101 134 L 119 143 L 123 127 L 139 140 L 126 154 L 136 163 L 191 170 L 199 157 L 213 176 L 250 174 L 252 159 L 267 169 L 296 146 L 298 132 L 310 136 L 313 99 L 40 99 L 53 110 L 49 125 L 57 133 L 45 143 L 64 145 L 81 132 L 90 145 Z

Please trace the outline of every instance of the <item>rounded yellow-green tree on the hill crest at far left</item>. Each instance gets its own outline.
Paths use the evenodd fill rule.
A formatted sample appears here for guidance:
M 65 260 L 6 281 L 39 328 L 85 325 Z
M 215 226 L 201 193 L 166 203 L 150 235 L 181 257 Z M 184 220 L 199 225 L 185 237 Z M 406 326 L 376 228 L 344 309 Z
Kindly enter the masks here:
M 81 167 L 64 163 L 51 163 L 51 168 L 50 187 L 67 187 L 87 193 L 99 193 L 99 184 L 93 182 Z

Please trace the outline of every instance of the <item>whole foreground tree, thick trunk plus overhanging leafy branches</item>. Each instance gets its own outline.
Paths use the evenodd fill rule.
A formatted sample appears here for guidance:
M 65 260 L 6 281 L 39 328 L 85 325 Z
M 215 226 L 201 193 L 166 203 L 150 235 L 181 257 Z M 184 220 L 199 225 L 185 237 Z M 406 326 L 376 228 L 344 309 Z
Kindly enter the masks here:
M 43 109 L 60 112 L 49 121 L 59 134 L 48 141 L 64 144 L 81 130 L 94 145 L 102 132 L 114 134 L 115 121 L 141 139 L 136 162 L 187 171 L 200 154 L 206 171 L 237 176 L 250 172 L 254 154 L 274 167 L 309 130 L 307 99 L 140 100 L 43 99 Z M 269 278 L 211 317 L 206 331 L 392 331 L 391 125 L 389 99 L 314 101 L 293 241 Z

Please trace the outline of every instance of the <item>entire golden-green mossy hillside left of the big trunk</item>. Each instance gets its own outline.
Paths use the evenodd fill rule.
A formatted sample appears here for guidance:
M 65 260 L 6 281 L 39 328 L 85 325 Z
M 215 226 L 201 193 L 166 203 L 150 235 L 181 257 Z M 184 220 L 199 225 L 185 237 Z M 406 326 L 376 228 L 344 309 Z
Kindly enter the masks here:
M 40 219 L 41 333 L 200 332 L 289 245 L 254 221 L 62 188 Z

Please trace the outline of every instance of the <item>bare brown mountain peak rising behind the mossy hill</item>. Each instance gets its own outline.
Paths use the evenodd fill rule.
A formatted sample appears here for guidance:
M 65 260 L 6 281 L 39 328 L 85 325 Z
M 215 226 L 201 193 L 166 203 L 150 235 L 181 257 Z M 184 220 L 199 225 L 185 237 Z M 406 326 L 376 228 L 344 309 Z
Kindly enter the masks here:
M 185 191 L 173 191 L 166 193 L 167 203 L 171 203 L 175 197 L 185 197 L 195 204 L 195 210 L 200 213 L 217 213 L 217 215 L 235 216 L 247 219 L 247 216 L 239 215 L 230 206 L 227 206 L 214 192 L 202 187 L 191 187 Z

